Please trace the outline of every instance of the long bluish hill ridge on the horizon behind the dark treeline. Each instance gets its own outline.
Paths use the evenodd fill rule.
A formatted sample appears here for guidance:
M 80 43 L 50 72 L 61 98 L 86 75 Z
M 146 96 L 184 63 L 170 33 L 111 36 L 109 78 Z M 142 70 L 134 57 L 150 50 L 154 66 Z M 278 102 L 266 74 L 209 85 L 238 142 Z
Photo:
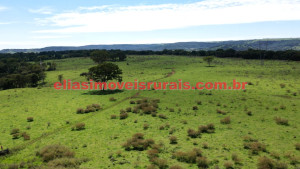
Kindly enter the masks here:
M 3 49 L 0 53 L 15 52 L 43 52 L 43 51 L 65 51 L 65 50 L 89 50 L 89 49 L 120 49 L 120 50 L 153 50 L 184 49 L 184 50 L 216 50 L 216 49 L 247 50 L 268 49 L 268 50 L 300 50 L 300 38 L 291 39 L 259 39 L 259 40 L 238 40 L 219 42 L 177 42 L 163 44 L 116 44 L 116 45 L 87 45 L 87 46 L 53 46 L 40 49 Z

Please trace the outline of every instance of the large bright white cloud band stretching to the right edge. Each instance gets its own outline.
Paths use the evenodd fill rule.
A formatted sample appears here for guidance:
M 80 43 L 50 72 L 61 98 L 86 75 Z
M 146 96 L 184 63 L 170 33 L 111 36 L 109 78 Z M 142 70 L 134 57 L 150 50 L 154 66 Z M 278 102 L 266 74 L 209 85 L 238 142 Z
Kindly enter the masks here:
M 203 0 L 190 4 L 80 7 L 40 24 L 39 33 L 128 32 L 200 25 L 300 20 L 300 0 Z

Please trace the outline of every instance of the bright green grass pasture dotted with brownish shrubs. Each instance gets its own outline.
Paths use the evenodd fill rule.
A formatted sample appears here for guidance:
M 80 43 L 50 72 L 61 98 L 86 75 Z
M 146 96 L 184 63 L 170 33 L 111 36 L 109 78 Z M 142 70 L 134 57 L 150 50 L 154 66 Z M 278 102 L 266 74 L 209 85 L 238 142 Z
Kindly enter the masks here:
M 300 147 L 299 62 L 265 61 L 262 66 L 259 60 L 217 58 L 213 67 L 208 67 L 200 57 L 129 56 L 126 62 L 117 63 L 123 70 L 124 82 L 134 79 L 162 82 L 182 79 L 192 84 L 199 81 L 232 84 L 233 79 L 251 82 L 246 90 L 149 90 L 139 91 L 139 95 L 136 90 L 107 95 L 55 90 L 53 83 L 58 81 L 59 74 L 82 82 L 85 79 L 80 73 L 94 63 L 89 58 L 54 62 L 57 70 L 47 72 L 45 86 L 0 91 L 0 145 L 15 150 L 11 155 L 0 157 L 0 168 L 20 164 L 25 168 L 47 168 L 47 163 L 36 152 L 54 144 L 70 148 L 78 159 L 86 158 L 80 168 L 130 169 L 147 168 L 151 164 L 153 168 L 175 165 L 198 168 L 199 162 L 197 165 L 174 157 L 174 152 L 189 152 L 194 148 L 202 151 L 209 168 L 257 168 L 258 159 L 263 156 L 278 166 L 281 163 L 287 168 L 300 167 L 300 151 L 295 146 L 298 143 Z M 173 74 L 167 76 L 172 71 Z M 131 98 L 133 96 L 136 97 Z M 110 101 L 111 97 L 117 100 Z M 136 106 L 130 104 L 131 100 L 141 99 L 160 99 L 157 117 L 129 112 L 126 119 L 111 119 L 111 115 L 118 116 L 121 109 Z M 76 114 L 77 108 L 94 103 L 103 109 Z M 198 110 L 193 110 L 193 106 Z M 158 117 L 159 114 L 166 119 Z M 228 124 L 220 122 L 228 116 Z M 27 122 L 27 117 L 34 120 Z M 275 117 L 281 119 L 276 121 Z M 85 129 L 72 131 L 76 123 L 85 123 Z M 202 133 L 197 138 L 188 136 L 189 129 L 197 130 L 210 123 L 215 126 L 213 133 Z M 12 139 L 14 128 L 29 134 L 30 140 Z M 153 139 L 160 145 L 157 157 L 160 160 L 151 162 L 147 150 L 128 151 L 122 147 L 135 133 L 143 133 L 145 139 Z M 170 144 L 171 136 L 177 138 L 176 144 Z M 252 143 L 255 145 L 245 146 Z M 260 149 L 257 144 L 265 148 Z

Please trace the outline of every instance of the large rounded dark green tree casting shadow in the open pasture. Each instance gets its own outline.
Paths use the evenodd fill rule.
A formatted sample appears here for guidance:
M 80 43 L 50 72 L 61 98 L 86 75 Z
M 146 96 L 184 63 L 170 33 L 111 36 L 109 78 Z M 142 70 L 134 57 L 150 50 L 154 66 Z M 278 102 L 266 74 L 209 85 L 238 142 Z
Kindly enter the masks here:
M 93 79 L 95 82 L 107 82 L 113 79 L 119 82 L 122 81 L 122 70 L 119 66 L 107 62 L 91 67 L 88 73 L 82 73 L 81 75 L 86 76 L 87 80 Z

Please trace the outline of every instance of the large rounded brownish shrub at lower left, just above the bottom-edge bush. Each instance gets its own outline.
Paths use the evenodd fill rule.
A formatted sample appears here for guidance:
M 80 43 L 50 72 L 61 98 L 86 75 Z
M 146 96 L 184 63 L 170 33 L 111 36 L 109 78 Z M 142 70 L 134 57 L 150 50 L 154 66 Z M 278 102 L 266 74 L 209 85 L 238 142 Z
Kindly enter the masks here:
M 73 158 L 75 155 L 69 148 L 62 145 L 49 145 L 37 152 L 43 161 L 49 162 L 57 158 Z

